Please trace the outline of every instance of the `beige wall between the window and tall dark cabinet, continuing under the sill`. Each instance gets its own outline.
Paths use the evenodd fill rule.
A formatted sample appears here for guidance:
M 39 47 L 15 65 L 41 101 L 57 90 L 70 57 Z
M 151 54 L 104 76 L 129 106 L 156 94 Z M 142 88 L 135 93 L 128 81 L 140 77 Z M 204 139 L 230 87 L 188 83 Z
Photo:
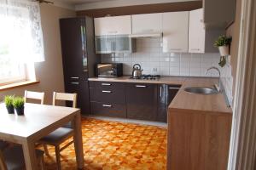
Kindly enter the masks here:
M 35 64 L 38 84 L 14 88 L 0 92 L 0 101 L 6 94 L 23 96 L 24 90 L 44 91 L 46 103 L 51 104 L 53 91 L 64 92 L 64 79 L 61 60 L 61 38 L 59 19 L 75 16 L 73 10 L 55 7 L 45 3 L 40 4 L 42 27 L 44 33 L 45 61 Z

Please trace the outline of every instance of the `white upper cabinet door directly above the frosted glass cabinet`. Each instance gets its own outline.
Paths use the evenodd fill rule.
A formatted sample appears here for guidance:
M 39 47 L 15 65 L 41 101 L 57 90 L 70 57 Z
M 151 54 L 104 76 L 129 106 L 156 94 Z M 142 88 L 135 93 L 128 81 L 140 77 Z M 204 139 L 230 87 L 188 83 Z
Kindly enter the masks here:
M 131 15 L 111 16 L 94 19 L 95 35 L 130 35 Z

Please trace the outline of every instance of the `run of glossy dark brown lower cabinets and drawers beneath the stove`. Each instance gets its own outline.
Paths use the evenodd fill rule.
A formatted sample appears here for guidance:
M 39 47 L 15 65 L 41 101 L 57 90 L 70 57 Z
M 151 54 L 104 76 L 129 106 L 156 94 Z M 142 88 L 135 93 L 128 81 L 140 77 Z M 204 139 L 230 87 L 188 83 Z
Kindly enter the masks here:
M 168 105 L 180 85 L 90 81 L 90 113 L 166 122 Z

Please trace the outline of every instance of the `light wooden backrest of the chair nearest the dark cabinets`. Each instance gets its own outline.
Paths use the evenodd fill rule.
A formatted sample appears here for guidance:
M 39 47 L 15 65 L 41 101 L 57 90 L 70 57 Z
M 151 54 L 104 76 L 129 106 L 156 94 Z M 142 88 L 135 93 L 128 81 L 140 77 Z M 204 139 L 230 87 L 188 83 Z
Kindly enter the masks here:
M 55 105 L 56 100 L 73 101 L 73 108 L 77 106 L 77 94 L 66 94 L 54 92 L 52 105 Z

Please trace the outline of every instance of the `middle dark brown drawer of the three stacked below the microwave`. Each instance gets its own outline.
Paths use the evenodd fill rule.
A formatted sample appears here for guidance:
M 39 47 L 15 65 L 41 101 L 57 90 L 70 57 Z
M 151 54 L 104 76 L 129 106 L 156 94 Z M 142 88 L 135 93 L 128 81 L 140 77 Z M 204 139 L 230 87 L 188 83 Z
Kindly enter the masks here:
M 90 88 L 90 101 L 125 104 L 125 90 Z

